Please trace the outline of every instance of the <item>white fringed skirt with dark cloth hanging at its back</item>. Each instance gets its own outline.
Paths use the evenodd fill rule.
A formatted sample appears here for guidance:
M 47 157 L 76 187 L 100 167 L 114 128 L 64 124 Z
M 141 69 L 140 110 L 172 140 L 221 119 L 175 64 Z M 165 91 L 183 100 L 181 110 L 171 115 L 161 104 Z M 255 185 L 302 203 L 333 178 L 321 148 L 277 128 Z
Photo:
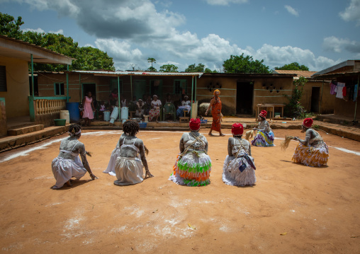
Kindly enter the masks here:
M 254 163 L 254 159 L 249 156 Z M 239 167 L 245 165 L 245 168 L 240 171 Z M 227 185 L 245 186 L 254 185 L 257 182 L 255 170 L 249 165 L 244 157 L 235 158 L 235 156 L 226 156 L 223 166 L 223 182 Z

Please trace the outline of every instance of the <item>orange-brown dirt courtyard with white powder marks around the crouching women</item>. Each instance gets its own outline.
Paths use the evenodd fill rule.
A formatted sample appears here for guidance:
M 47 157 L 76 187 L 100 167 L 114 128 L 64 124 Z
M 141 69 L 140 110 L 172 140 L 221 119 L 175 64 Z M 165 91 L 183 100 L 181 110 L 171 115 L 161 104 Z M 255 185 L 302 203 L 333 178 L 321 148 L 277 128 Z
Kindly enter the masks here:
M 201 129 L 206 134 L 208 129 Z M 1 253 L 359 253 L 360 144 L 320 132 L 330 149 L 327 167 L 291 162 L 283 152 L 252 147 L 257 185 L 225 185 L 225 137 L 208 137 L 210 185 L 168 180 L 182 132 L 140 132 L 155 176 L 130 186 L 102 173 L 120 131 L 84 131 L 80 141 L 97 180 L 52 190 L 51 161 L 60 139 L 0 154 Z M 304 138 L 300 130 L 274 129 Z M 340 150 L 340 149 L 347 150 Z

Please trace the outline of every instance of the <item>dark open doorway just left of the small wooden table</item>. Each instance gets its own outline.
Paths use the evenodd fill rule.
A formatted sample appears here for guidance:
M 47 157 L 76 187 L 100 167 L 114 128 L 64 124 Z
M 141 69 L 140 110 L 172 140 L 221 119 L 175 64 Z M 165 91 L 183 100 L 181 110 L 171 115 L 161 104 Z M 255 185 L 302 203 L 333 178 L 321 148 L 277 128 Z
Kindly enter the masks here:
M 236 86 L 237 115 L 252 115 L 253 95 L 254 95 L 253 82 L 237 82 L 237 86 Z

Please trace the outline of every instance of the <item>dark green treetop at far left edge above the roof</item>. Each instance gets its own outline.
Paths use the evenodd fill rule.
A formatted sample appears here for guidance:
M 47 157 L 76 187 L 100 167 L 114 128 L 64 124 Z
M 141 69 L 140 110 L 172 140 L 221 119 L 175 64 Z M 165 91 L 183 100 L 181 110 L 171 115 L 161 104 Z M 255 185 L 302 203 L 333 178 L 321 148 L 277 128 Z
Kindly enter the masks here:
M 23 25 L 23 21 L 21 21 L 21 16 L 18 16 L 18 19 L 15 20 L 13 16 L 0 12 L 1 35 L 6 35 L 15 39 L 21 39 L 21 35 L 23 33 L 23 31 L 20 30 L 21 25 Z

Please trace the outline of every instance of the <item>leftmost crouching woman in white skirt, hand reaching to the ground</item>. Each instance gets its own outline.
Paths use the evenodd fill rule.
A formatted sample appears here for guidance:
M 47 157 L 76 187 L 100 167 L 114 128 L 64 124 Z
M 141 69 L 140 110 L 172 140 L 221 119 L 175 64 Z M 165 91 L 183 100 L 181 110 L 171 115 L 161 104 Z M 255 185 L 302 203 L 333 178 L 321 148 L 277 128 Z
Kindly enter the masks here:
M 52 189 L 59 189 L 64 184 L 72 186 L 70 179 L 74 177 L 79 180 L 86 172 L 89 172 L 92 180 L 96 178 L 86 160 L 85 146 L 78 140 L 81 137 L 81 127 L 79 125 L 70 125 L 69 134 L 70 137 L 62 139 L 60 154 L 51 163 L 52 173 L 56 180 Z

